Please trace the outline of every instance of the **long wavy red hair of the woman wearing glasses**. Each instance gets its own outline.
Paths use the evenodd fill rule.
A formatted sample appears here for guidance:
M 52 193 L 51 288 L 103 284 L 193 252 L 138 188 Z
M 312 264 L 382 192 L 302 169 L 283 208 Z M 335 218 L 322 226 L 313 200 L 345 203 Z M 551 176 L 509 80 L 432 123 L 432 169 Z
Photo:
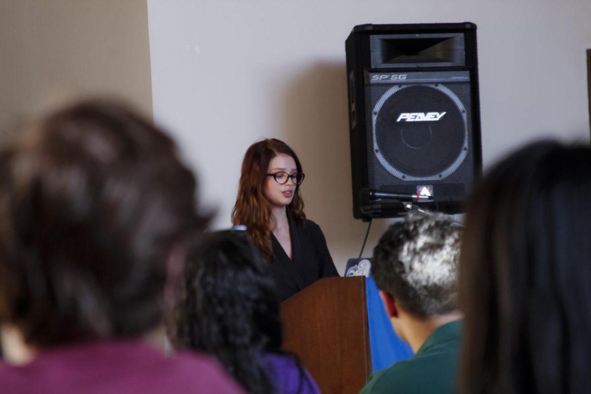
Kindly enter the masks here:
M 269 263 L 275 259 L 275 254 L 271 243 L 271 204 L 263 193 L 263 187 L 267 180 L 269 162 L 278 154 L 293 157 L 298 172 L 303 172 L 296 152 L 285 142 L 275 138 L 255 142 L 249 146 L 244 155 L 238 196 L 232 210 L 232 223 L 246 226 L 251 241 Z M 294 198 L 287 206 L 287 210 L 296 223 L 303 223 L 306 220 L 299 186 L 296 186 Z

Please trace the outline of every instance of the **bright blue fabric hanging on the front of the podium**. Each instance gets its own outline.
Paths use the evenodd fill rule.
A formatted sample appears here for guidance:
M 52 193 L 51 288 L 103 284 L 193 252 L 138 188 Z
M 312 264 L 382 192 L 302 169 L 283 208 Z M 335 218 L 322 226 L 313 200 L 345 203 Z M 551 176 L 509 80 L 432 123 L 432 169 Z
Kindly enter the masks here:
M 371 347 L 372 370 L 387 368 L 395 362 L 406 360 L 413 350 L 394 332 L 388 315 L 379 298 L 378 286 L 372 278 L 365 279 L 368 302 L 369 346 Z

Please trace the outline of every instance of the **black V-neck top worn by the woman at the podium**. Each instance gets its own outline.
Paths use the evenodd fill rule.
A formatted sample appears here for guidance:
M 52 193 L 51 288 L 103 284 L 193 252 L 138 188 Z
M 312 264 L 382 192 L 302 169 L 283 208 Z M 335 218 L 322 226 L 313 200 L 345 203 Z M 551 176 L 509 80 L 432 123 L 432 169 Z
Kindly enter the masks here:
M 293 259 L 289 258 L 277 238 L 271 234 L 275 260 L 268 268 L 275 281 L 275 291 L 280 302 L 318 279 L 339 276 L 320 226 L 311 220 L 297 224 L 289 213 L 287 221 L 290 226 Z

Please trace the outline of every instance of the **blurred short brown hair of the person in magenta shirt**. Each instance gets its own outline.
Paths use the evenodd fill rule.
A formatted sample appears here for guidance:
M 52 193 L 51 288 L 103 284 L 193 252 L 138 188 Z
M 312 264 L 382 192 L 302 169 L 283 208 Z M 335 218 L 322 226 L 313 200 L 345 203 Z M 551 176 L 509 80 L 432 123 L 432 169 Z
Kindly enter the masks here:
M 1 161 L 2 324 L 33 347 L 158 327 L 167 261 L 205 222 L 174 142 L 125 106 L 86 101 Z

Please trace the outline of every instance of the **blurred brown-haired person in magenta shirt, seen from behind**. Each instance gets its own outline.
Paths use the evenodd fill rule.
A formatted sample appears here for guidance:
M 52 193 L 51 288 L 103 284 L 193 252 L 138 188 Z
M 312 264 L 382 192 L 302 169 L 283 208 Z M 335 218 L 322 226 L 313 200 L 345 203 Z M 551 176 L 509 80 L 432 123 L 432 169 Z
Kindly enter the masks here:
M 2 340 L 21 364 L 0 365 L 3 393 L 241 392 L 209 358 L 157 349 L 170 263 L 206 222 L 167 135 L 123 106 L 81 102 L 1 167 Z

